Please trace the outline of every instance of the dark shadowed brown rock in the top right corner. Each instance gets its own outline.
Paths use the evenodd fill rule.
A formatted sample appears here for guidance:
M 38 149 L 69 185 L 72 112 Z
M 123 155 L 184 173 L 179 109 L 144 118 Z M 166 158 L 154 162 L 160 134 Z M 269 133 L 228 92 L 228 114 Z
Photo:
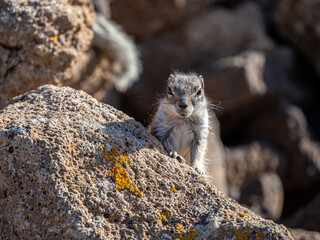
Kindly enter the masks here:
M 274 20 L 278 31 L 295 44 L 320 74 L 320 2 L 317 0 L 281 0 Z

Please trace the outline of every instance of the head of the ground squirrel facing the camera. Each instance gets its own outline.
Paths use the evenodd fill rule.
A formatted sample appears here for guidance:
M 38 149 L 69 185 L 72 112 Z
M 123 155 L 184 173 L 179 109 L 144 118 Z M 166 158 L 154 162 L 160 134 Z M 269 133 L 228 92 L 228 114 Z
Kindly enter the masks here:
M 191 116 L 205 102 L 203 77 L 196 73 L 170 74 L 165 100 L 171 105 L 171 112 L 180 117 Z

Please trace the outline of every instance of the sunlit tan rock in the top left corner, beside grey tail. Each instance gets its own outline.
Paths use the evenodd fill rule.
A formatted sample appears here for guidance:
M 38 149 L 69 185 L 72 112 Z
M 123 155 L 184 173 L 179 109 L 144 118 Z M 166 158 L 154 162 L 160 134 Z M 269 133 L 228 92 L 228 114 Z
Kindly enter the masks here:
M 0 108 L 12 97 L 71 77 L 93 38 L 90 0 L 0 0 Z

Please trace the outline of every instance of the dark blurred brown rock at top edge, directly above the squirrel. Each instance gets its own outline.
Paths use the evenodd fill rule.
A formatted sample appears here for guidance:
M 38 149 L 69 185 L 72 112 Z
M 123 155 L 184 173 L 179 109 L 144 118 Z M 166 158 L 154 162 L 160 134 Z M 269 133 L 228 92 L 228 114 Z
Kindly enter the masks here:
M 212 2 L 214 0 L 117 0 L 110 7 L 112 18 L 128 34 L 146 39 L 179 25 Z

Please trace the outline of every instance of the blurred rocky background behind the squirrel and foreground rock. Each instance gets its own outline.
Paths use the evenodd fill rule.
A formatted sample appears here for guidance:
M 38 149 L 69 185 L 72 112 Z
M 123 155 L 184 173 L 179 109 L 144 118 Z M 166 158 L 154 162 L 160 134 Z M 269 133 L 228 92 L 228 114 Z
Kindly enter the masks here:
M 213 183 L 263 217 L 320 231 L 319 1 L 26 2 L 0 1 L 1 107 L 55 83 L 147 125 L 169 73 L 195 71 L 216 114 Z

